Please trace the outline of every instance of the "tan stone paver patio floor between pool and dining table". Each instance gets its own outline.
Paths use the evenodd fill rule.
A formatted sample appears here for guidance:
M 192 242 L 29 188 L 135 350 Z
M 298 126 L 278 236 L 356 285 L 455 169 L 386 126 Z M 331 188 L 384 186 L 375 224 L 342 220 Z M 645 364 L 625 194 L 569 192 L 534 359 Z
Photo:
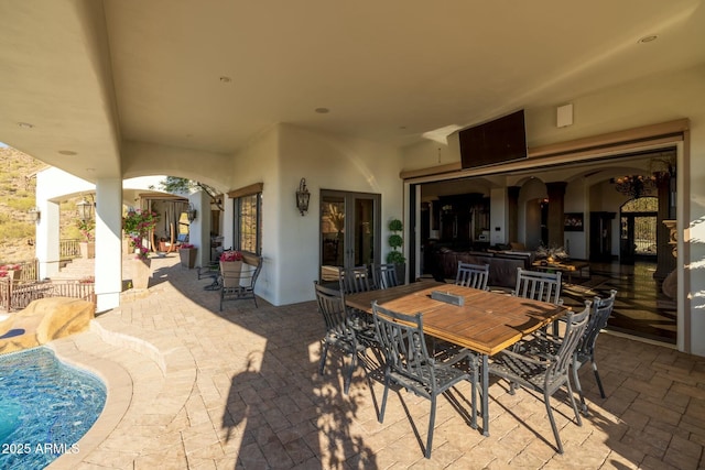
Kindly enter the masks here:
M 601 400 L 581 371 L 590 416 L 578 427 L 553 401 L 565 453 L 554 449 L 540 400 L 490 386 L 490 436 L 471 429 L 469 384 L 438 400 L 433 455 L 424 459 L 430 403 L 390 393 L 358 370 L 341 393 L 339 356 L 317 374 L 323 320 L 313 302 L 273 307 L 231 302 L 203 287 L 176 255 L 153 260 L 147 292 L 123 293 L 88 332 L 51 343 L 99 374 L 106 408 L 51 469 L 704 468 L 705 358 L 603 334 Z M 263 273 L 265 274 L 265 273 Z M 271 282 L 265 276 L 259 283 Z M 312 287 L 313 291 L 313 287 Z M 565 396 L 558 393 L 556 396 Z

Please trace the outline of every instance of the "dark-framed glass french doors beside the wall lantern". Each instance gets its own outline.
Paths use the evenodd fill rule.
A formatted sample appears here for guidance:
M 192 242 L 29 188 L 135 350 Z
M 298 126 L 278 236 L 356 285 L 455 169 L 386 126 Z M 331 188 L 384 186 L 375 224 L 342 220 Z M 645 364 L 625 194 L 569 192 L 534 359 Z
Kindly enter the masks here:
M 380 195 L 321 190 L 321 280 L 338 269 L 379 263 Z

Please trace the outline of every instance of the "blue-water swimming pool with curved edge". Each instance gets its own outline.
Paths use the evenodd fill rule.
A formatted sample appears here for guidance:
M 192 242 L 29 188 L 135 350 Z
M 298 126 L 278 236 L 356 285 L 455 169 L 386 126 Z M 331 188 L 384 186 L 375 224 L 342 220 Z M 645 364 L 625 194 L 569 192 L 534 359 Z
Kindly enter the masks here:
M 78 440 L 106 403 L 105 384 L 47 348 L 0 356 L 0 468 L 42 469 Z

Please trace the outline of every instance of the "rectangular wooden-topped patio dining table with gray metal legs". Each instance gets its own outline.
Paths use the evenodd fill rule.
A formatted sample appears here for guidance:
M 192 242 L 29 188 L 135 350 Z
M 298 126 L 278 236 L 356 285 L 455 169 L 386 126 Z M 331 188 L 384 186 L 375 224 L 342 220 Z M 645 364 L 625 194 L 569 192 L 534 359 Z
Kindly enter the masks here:
M 433 292 L 462 297 L 463 305 L 434 299 Z M 560 305 L 432 281 L 350 294 L 345 298 L 349 307 L 370 315 L 375 300 L 393 311 L 423 314 L 424 334 L 468 348 L 480 356 L 480 403 L 485 436 L 489 436 L 489 357 L 568 310 L 568 307 Z M 474 415 L 474 425 L 475 418 Z

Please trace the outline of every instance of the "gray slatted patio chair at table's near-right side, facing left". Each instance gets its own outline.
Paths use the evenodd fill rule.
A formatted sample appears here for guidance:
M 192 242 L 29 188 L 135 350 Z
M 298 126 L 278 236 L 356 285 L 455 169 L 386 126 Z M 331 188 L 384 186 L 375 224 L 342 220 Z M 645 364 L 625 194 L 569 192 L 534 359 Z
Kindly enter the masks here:
M 553 418 L 551 396 L 565 385 L 575 413 L 578 426 L 583 426 L 581 414 L 575 404 L 568 369 L 573 362 L 574 352 L 587 328 L 590 313 L 590 300 L 585 302 L 585 309 L 581 313 L 568 311 L 565 319 L 565 334 L 557 350 L 554 352 L 528 351 L 527 353 L 505 350 L 494 357 L 489 364 L 489 373 L 509 381 L 509 393 L 522 386 L 543 393 L 543 401 L 549 413 L 549 420 L 553 429 L 558 453 L 563 453 L 563 442 L 558 428 Z

